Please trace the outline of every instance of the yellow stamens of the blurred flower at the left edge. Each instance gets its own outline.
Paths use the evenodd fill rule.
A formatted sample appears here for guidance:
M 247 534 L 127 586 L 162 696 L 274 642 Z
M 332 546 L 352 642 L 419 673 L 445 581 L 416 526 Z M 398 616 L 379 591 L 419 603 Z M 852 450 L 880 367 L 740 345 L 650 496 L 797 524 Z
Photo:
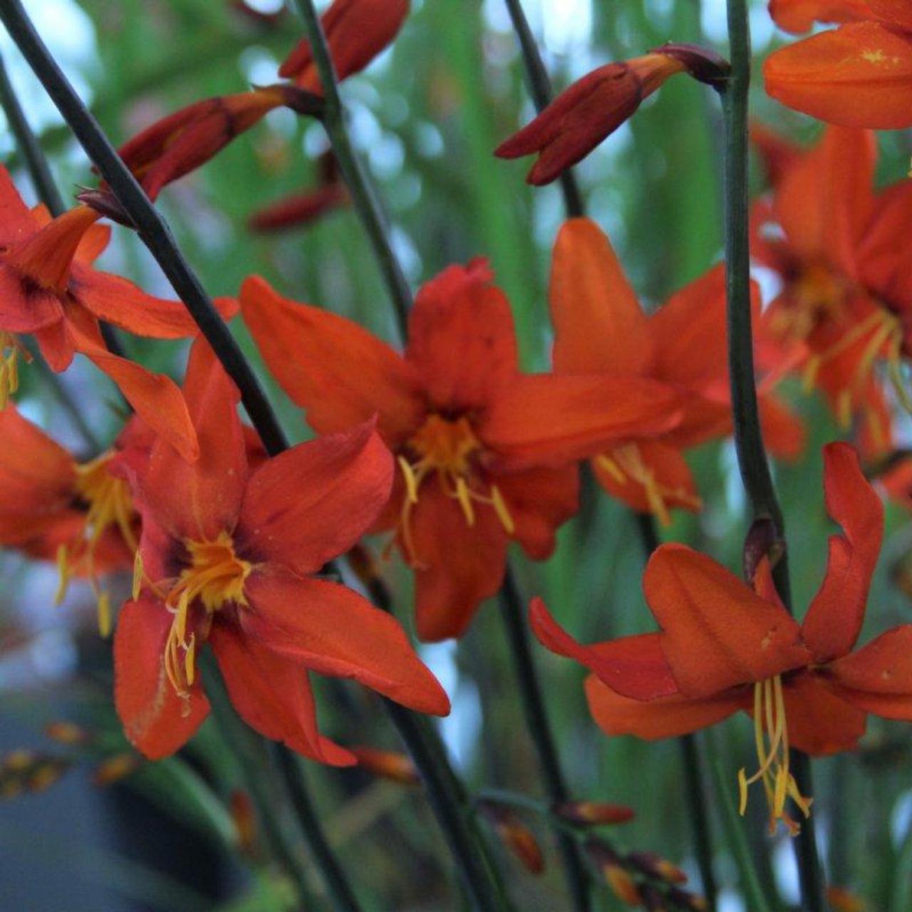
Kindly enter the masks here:
M 98 601 L 98 632 L 107 637 L 111 628 L 109 594 L 98 584 L 95 553 L 98 542 L 110 528 L 119 530 L 124 544 L 135 553 L 137 548 L 134 523 L 136 511 L 127 482 L 108 471 L 113 452 L 102 453 L 97 459 L 76 467 L 76 495 L 88 504 L 82 528 L 70 542 L 57 547 L 57 604 L 67 595 L 70 578 L 84 572 Z

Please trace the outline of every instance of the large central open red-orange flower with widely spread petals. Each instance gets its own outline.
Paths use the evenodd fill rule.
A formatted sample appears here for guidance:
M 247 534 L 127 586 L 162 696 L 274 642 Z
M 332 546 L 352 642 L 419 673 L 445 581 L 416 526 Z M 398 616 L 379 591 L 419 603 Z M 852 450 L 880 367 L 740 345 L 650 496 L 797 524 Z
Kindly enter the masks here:
M 422 639 L 459 636 L 501 585 L 510 540 L 535 559 L 576 511 L 574 462 L 679 420 L 673 389 L 646 378 L 523 375 L 506 297 L 486 265 L 425 285 L 400 356 L 355 323 L 241 290 L 244 320 L 315 430 L 378 414 L 399 468 L 378 528 L 415 571 Z

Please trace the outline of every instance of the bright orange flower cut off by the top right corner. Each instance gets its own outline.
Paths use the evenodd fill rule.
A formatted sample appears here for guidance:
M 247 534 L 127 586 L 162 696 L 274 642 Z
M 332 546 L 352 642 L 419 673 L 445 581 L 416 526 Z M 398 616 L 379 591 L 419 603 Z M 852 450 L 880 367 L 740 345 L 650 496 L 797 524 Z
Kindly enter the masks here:
M 896 0 L 772 0 L 782 28 L 844 25 L 782 47 L 763 65 L 789 108 L 844 127 L 912 126 L 912 7 Z

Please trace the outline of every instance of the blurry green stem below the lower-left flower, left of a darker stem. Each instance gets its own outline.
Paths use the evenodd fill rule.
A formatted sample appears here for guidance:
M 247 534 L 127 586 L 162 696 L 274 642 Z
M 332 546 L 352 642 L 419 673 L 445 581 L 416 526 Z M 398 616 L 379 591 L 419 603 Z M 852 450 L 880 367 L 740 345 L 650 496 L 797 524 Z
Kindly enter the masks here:
M 272 780 L 263 774 L 267 759 L 265 740 L 254 735 L 234 711 L 222 675 L 209 651 L 200 657 L 200 671 L 212 717 L 241 767 L 265 840 L 288 876 L 295 881 L 301 907 L 316 907 L 301 846 L 283 811 L 283 803 L 273 789 Z

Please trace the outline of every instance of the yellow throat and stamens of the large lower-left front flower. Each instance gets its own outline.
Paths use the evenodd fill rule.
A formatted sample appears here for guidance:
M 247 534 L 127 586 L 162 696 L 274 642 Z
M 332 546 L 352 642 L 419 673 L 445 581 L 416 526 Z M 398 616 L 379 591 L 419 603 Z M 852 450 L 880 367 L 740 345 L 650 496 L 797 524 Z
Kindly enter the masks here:
M 174 616 L 165 643 L 165 674 L 171 687 L 184 700 L 184 715 L 189 715 L 190 688 L 196 678 L 197 632 L 205 639 L 212 615 L 225 605 L 248 604 L 244 582 L 254 565 L 234 554 L 233 539 L 224 531 L 212 542 L 185 541 L 184 546 L 190 555 L 190 565 L 181 570 L 177 579 L 161 581 L 151 588 Z M 133 573 L 134 598 L 140 595 L 142 580 L 142 558 L 138 551 Z M 168 587 L 167 594 L 163 591 L 165 587 Z M 202 604 L 204 615 L 199 624 L 190 624 L 192 607 L 198 603 Z M 192 627 L 189 636 L 188 627 Z

